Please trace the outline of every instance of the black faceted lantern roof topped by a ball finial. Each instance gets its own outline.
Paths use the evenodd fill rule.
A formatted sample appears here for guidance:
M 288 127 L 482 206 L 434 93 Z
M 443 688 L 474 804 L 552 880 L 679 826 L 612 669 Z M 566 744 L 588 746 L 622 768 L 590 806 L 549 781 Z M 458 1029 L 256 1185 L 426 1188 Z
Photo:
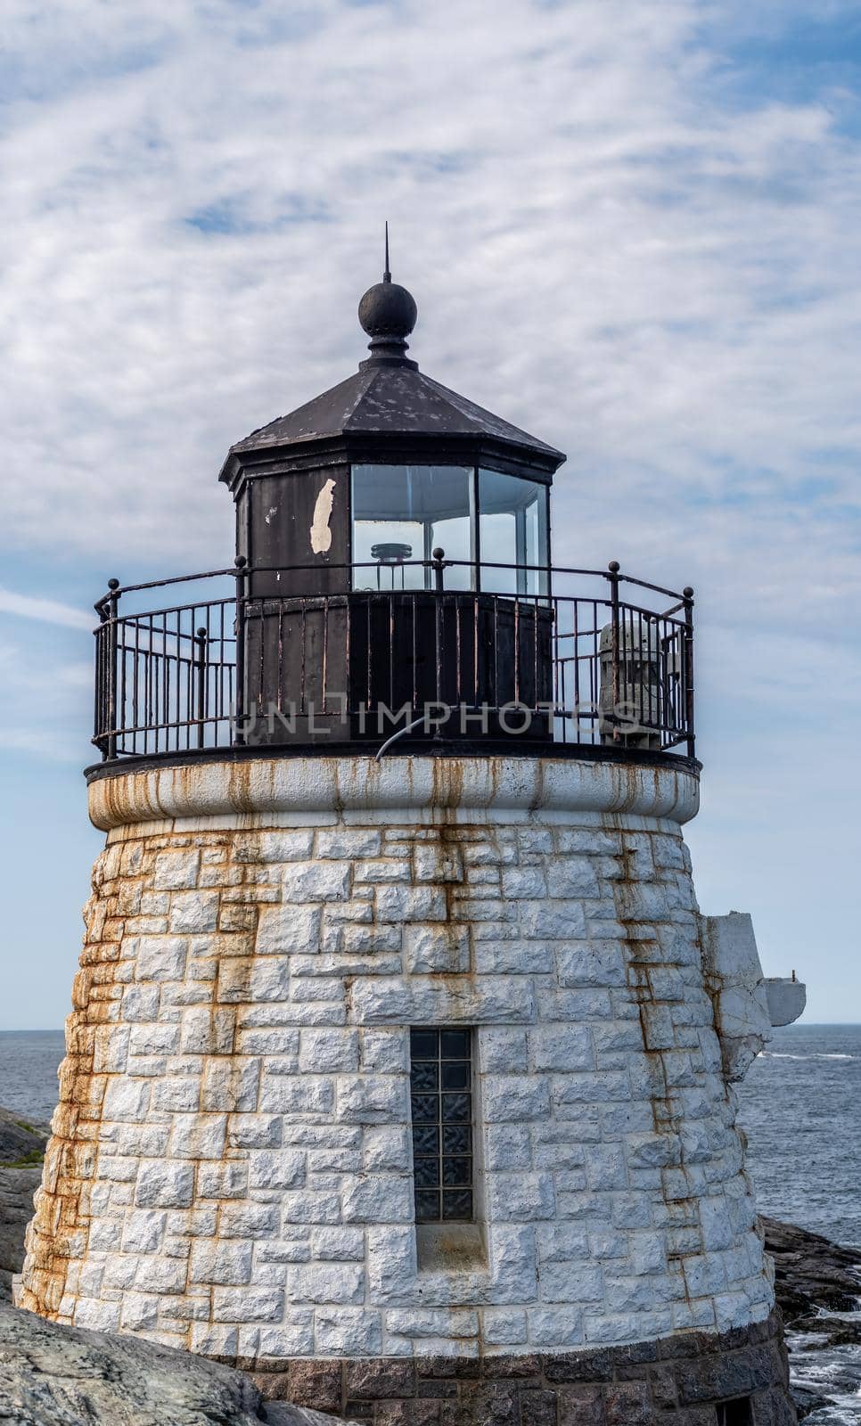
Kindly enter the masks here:
M 426 448 L 429 441 L 449 446 L 468 442 L 478 452 L 499 448 L 503 456 L 533 466 L 536 475 L 552 476 L 564 461 L 562 451 L 440 385 L 408 359 L 406 337 L 415 319 L 415 301 L 406 288 L 392 282 L 386 252 L 383 281 L 359 302 L 371 356 L 346 381 L 231 446 L 221 479 L 232 485 L 242 469 L 278 451 L 289 458 L 319 442 L 358 445 L 369 452 L 375 441 L 398 448 L 413 442 Z M 383 451 L 379 455 L 385 458 Z

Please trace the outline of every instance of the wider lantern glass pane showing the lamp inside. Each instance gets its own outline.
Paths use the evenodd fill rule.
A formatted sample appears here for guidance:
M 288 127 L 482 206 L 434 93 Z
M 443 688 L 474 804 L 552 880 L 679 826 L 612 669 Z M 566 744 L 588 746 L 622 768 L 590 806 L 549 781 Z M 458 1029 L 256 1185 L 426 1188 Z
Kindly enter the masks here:
M 429 560 L 472 559 L 472 468 L 354 465 L 354 589 L 433 589 Z M 446 569 L 446 589 L 472 589 L 469 568 Z

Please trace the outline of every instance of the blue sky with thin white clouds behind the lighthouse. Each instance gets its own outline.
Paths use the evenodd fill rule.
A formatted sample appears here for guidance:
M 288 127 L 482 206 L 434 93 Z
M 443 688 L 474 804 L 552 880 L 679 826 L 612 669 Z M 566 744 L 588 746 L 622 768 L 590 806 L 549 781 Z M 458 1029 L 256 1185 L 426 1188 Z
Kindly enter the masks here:
M 567 451 L 556 558 L 697 590 L 704 911 L 861 1020 L 861 20 L 818 0 L 4 6 L 0 1025 L 61 1022 L 88 617 L 232 556 L 227 446 L 413 355 Z

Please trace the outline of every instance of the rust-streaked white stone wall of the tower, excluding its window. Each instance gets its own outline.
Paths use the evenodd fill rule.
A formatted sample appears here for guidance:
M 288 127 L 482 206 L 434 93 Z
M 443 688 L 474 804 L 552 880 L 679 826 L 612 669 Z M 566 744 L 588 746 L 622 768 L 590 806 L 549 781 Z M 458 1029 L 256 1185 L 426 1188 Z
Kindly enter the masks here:
M 108 838 L 21 1305 L 258 1359 L 767 1316 L 680 830 L 696 791 L 517 759 L 96 783 Z M 476 1030 L 486 1261 L 448 1271 L 416 1265 L 428 1024 Z

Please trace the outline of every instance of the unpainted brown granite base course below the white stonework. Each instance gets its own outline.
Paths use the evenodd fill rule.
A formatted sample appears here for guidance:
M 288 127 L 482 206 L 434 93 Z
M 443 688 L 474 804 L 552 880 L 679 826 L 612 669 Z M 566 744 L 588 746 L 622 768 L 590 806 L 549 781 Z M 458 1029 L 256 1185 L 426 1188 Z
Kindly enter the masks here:
M 227 1360 L 227 1359 L 221 1359 Z M 230 1365 L 248 1365 L 231 1359 Z M 795 1426 L 778 1312 L 720 1335 L 529 1356 L 297 1358 L 255 1382 L 373 1426 Z

